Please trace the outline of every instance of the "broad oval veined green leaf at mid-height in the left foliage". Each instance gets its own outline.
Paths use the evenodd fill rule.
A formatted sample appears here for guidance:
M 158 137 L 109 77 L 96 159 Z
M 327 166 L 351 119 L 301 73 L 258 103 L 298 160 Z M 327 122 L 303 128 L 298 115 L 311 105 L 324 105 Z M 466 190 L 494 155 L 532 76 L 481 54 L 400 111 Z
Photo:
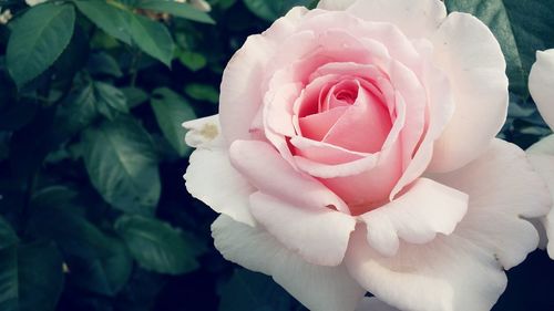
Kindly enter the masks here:
M 123 211 L 153 215 L 161 182 L 150 134 L 121 116 L 86 129 L 83 142 L 84 165 L 100 195 Z

